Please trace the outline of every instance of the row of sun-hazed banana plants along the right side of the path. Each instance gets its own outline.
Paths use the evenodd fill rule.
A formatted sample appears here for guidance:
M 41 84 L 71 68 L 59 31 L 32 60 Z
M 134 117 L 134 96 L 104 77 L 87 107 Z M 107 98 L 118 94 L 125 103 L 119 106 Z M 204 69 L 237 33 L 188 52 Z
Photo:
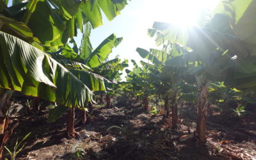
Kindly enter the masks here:
M 132 71 L 127 70 L 128 90 L 145 96 L 146 109 L 150 94 L 163 95 L 167 116 L 170 99 L 173 129 L 177 128 L 177 100 L 189 95 L 187 98 L 197 102 L 195 135 L 205 143 L 209 86 L 222 82 L 228 91 L 255 91 L 254 6 L 254 1 L 223 0 L 207 22 L 186 29 L 155 22 L 148 35 L 156 39 L 160 49 L 137 49 L 148 63 L 141 61 L 142 67 L 134 64 Z M 184 84 L 189 86 L 188 92 L 182 91 Z

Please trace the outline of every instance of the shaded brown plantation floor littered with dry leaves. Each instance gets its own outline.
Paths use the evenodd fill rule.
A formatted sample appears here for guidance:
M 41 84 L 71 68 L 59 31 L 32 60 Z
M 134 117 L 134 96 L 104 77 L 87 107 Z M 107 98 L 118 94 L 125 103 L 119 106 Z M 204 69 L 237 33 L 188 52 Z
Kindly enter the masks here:
M 20 102 L 22 103 L 22 102 Z M 88 122 L 78 125 L 80 138 L 65 133 L 67 115 L 47 124 L 47 109 L 38 115 L 12 117 L 20 125 L 13 132 L 8 148 L 16 138 L 32 132 L 18 159 L 253 159 L 256 157 L 256 124 L 249 119 L 221 120 L 212 107 L 207 124 L 207 143 L 179 136 L 195 130 L 195 107 L 182 106 L 179 131 L 172 133 L 170 118 L 151 115 L 136 100 L 122 99 L 111 109 L 94 108 Z M 186 117 L 186 118 L 185 118 Z M 186 138 L 184 136 L 183 138 Z M 80 151 L 79 151 L 80 150 Z M 4 150 L 6 155 L 6 150 Z

